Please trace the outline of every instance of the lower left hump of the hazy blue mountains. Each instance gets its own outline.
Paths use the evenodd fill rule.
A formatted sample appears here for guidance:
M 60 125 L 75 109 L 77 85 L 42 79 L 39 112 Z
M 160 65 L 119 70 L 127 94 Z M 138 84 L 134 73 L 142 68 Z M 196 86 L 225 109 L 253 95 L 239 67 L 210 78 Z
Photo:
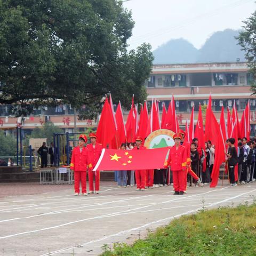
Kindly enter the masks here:
M 198 58 L 196 47 L 183 38 L 172 39 L 154 52 L 154 64 L 194 63 Z

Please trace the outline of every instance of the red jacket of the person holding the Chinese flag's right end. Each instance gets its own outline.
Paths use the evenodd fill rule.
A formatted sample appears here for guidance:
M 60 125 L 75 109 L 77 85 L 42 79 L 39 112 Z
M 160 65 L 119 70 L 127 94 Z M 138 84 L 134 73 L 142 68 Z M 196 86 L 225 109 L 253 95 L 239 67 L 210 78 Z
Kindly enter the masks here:
M 176 149 L 175 145 L 171 147 L 167 161 L 168 165 L 171 165 L 171 171 L 185 171 L 187 169 L 186 148 L 181 145 L 178 149 Z

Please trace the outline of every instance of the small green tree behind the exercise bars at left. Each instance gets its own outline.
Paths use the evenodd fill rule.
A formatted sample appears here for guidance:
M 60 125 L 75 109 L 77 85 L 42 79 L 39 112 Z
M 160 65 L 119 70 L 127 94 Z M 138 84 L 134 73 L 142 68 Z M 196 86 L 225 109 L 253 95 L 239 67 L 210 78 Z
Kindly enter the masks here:
M 50 146 L 53 142 L 53 133 L 63 133 L 63 130 L 58 126 L 55 126 L 53 123 L 45 123 L 42 127 L 36 128 L 32 131 L 29 138 L 47 138 L 47 146 Z

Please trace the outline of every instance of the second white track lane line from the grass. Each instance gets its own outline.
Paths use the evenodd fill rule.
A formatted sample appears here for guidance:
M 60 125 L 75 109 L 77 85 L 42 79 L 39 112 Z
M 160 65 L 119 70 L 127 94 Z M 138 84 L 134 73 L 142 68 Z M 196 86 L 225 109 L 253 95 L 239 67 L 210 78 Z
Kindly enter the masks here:
M 185 197 L 182 197 L 182 198 L 185 199 L 185 198 L 189 198 L 189 197 L 194 197 L 194 196 L 199 196 L 199 195 L 205 195 L 205 194 L 212 193 L 212 192 L 214 192 L 214 191 L 218 191 L 218 189 L 211 190 L 211 191 L 207 191 L 207 192 L 205 192 L 205 193 L 201 193 L 201 194 L 197 194 L 197 195 L 185 196 Z M 169 201 L 165 201 L 165 202 L 161 202 L 161 203 L 155 203 L 154 205 L 163 204 L 163 203 L 170 203 L 170 202 L 178 201 L 178 200 L 179 200 L 179 201 L 182 201 L 182 198 L 171 199 L 171 200 L 169 200 Z M 151 205 L 150 205 L 150 206 L 151 206 Z M 130 212 L 130 211 L 143 209 L 143 208 L 145 208 L 145 207 L 149 207 L 149 206 L 138 207 L 138 208 L 135 208 L 135 209 L 132 209 L 132 210 L 121 211 L 121 212 L 114 212 L 114 213 L 105 214 L 105 215 L 99 215 L 99 216 L 95 216 L 95 217 L 91 217 L 91 218 L 86 218 L 86 219 L 82 219 L 82 220 L 71 221 L 71 222 L 63 223 L 63 224 L 57 225 L 57 226 L 52 226 L 52 227 L 47 227 L 47 228 L 42 228 L 42 229 L 37 229 L 37 230 L 30 230 L 30 231 L 25 231 L 25 232 L 21 232 L 21 233 L 17 233 L 17 234 L 12 234 L 12 235 L 7 235 L 7 236 L 2 236 L 2 237 L 0 237 L 0 239 L 9 238 L 9 237 L 14 237 L 14 236 L 19 236 L 19 235 L 25 235 L 25 234 L 30 234 L 30 233 L 37 233 L 37 232 L 39 232 L 39 231 L 44 231 L 44 230 L 49 230 L 49 229 L 60 228 L 60 227 L 72 225 L 72 224 L 74 224 L 74 223 L 79 223 L 79 222 L 88 221 L 88 220 L 95 220 L 95 219 L 108 218 L 108 217 L 115 217 L 116 215 L 122 215 L 122 214 L 125 214 L 125 213 Z

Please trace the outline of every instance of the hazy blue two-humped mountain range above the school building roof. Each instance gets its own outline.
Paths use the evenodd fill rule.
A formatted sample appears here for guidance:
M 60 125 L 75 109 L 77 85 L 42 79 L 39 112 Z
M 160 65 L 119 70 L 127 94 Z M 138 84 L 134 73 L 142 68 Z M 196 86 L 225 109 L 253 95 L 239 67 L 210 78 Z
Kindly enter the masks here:
M 245 61 L 235 39 L 238 34 L 233 29 L 215 32 L 199 50 L 183 38 L 172 39 L 153 51 L 154 64 Z

